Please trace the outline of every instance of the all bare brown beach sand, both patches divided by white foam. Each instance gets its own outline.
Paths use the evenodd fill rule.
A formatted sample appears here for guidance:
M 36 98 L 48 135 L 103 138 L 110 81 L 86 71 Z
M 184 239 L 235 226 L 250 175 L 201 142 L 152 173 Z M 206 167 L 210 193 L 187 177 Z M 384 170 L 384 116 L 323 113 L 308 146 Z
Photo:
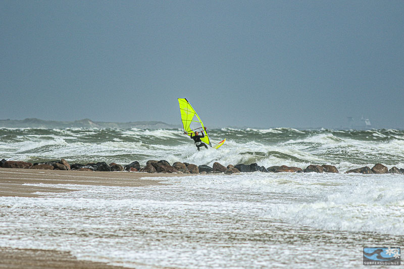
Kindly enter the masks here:
M 98 186 L 142 187 L 159 185 L 145 177 L 178 177 L 181 174 L 131 172 L 89 172 L 0 168 L 0 196 L 41 197 L 36 192 L 68 192 L 67 188 L 37 187 L 23 184 L 79 184 Z M 142 179 L 140 179 L 142 178 Z M 123 268 L 102 262 L 77 260 L 69 252 L 0 247 L 0 268 Z

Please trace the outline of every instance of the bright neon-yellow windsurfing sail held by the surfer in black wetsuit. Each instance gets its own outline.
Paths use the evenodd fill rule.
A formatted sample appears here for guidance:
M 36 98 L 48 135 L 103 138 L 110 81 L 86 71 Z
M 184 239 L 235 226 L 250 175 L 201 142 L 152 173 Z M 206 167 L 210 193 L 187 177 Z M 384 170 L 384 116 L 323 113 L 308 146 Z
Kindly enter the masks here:
M 178 98 L 178 102 L 180 104 L 181 121 L 182 126 L 184 127 L 184 132 L 191 136 L 191 133 L 193 132 L 200 133 L 204 131 L 205 137 L 201 138 L 200 140 L 212 147 L 208 132 L 204 128 L 204 123 L 200 120 L 192 105 L 185 98 Z

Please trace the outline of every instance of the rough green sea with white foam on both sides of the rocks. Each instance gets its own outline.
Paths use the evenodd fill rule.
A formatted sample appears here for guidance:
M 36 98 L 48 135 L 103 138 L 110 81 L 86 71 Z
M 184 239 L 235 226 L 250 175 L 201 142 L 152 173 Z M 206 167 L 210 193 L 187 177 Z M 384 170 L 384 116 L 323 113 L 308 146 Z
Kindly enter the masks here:
M 159 177 L 160 185 L 145 187 L 40 184 L 77 191 L 0 197 L 0 247 L 70 251 L 133 268 L 358 268 L 364 247 L 404 247 L 404 175 L 344 173 L 376 163 L 404 168 L 404 131 L 208 131 L 212 144 L 226 138 L 224 145 L 198 152 L 180 129 L 2 128 L 0 159 L 326 164 L 340 173 Z

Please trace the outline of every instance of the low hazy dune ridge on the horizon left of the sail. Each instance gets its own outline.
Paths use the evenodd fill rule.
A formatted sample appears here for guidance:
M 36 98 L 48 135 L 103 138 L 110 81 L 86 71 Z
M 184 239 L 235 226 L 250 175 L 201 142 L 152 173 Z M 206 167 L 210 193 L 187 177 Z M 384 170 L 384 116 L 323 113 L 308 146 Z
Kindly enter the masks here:
M 74 122 L 44 121 L 35 118 L 25 120 L 0 120 L 0 128 L 119 128 L 119 129 L 175 129 L 179 125 L 167 124 L 164 122 L 93 122 L 83 119 Z

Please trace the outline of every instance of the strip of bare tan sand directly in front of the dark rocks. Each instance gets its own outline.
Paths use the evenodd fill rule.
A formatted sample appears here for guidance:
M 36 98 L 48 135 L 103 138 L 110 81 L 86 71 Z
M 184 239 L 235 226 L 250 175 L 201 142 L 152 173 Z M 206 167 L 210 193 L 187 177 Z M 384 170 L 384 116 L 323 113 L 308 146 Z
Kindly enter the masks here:
M 34 169 L 0 169 L 0 197 L 42 197 L 35 192 L 70 192 L 68 188 L 28 186 L 24 184 L 77 184 L 95 186 L 144 187 L 160 185 L 153 178 L 181 177 L 186 174 L 149 174 L 128 172 L 92 172 Z M 142 178 L 142 179 L 141 179 Z M 144 179 L 150 178 L 150 179 Z

